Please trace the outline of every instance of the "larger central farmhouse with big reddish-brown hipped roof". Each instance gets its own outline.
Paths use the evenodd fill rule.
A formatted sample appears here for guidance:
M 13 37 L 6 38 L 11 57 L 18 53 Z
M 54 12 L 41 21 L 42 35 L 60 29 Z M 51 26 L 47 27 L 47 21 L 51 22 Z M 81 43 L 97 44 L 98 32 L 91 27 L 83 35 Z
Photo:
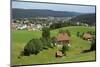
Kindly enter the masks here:
M 57 42 L 59 42 L 60 44 L 69 44 L 70 37 L 67 33 L 60 33 L 57 37 Z

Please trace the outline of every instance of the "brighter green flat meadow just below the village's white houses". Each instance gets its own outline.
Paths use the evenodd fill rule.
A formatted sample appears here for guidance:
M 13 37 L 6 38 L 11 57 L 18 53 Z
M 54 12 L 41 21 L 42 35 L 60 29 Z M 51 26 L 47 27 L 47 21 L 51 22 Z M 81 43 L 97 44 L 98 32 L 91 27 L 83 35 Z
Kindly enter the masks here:
M 40 38 L 41 31 L 25 31 L 18 30 L 12 32 L 12 42 L 13 43 L 27 43 L 32 38 Z

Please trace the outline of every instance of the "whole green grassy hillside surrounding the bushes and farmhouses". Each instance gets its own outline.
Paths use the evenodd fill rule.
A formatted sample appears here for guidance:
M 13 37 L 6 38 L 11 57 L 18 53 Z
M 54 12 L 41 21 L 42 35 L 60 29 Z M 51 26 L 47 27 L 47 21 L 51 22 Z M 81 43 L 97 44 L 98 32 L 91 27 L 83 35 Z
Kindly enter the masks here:
M 83 50 L 90 48 L 90 42 L 77 37 L 77 32 L 95 31 L 94 27 L 73 26 L 64 27 L 71 32 L 71 48 L 67 52 L 67 56 L 56 58 L 55 52 L 57 48 L 43 50 L 38 55 L 24 56 L 18 59 L 20 52 L 23 50 L 27 42 L 32 38 L 40 38 L 41 31 L 13 31 L 12 32 L 12 65 L 26 64 L 44 64 L 59 62 L 78 62 L 95 60 L 95 51 L 81 53 Z M 51 37 L 58 35 L 59 29 L 51 31 Z

